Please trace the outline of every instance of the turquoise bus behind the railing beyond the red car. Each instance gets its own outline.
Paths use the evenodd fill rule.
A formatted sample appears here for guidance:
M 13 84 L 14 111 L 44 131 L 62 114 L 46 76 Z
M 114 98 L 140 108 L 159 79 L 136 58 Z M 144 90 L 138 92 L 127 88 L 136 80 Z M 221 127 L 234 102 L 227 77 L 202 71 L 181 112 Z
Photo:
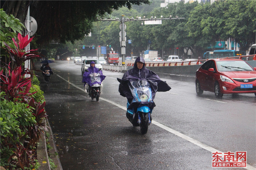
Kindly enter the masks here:
M 205 52 L 204 53 L 204 59 L 235 57 L 235 56 L 241 56 L 241 55 L 246 55 L 246 53 L 244 51 L 235 51 L 235 50 L 223 49 L 223 50 L 214 50 L 214 51 L 211 51 L 211 52 Z

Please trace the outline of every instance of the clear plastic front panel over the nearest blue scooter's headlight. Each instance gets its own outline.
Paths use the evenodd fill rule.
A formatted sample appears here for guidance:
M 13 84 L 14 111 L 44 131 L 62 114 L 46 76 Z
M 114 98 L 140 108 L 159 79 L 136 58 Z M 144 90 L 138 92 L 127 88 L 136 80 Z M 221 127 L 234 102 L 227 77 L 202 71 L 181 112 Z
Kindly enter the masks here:
M 148 81 L 131 81 L 129 88 L 134 97 L 132 102 L 153 102 L 151 86 Z

